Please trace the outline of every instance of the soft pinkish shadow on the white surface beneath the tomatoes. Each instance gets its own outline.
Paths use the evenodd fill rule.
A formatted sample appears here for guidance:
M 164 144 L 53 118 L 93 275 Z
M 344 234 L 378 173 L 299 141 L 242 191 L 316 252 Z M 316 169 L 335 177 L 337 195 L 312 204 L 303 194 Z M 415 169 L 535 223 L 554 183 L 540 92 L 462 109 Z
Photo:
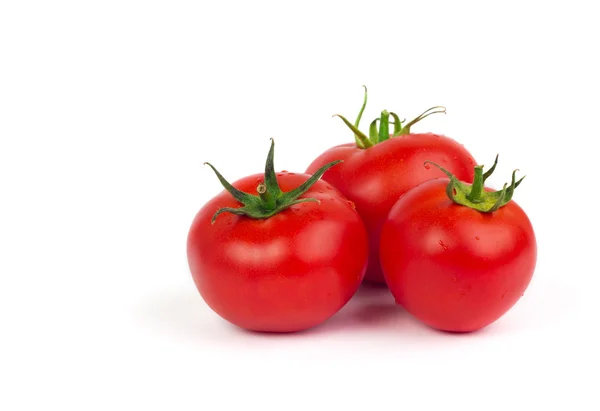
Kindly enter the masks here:
M 137 319 L 161 335 L 182 338 L 187 342 L 212 341 L 239 345 L 265 338 L 308 339 L 343 335 L 343 338 L 386 338 L 389 341 L 437 344 L 440 339 L 462 339 L 487 333 L 488 328 L 474 333 L 449 333 L 435 330 L 419 322 L 396 304 L 386 287 L 365 284 L 352 299 L 326 322 L 308 330 L 291 333 L 248 331 L 236 327 L 215 314 L 195 292 L 180 290 L 155 295 L 137 307 Z M 494 327 L 495 328 L 495 327 Z M 372 337 L 371 337 L 372 336 Z

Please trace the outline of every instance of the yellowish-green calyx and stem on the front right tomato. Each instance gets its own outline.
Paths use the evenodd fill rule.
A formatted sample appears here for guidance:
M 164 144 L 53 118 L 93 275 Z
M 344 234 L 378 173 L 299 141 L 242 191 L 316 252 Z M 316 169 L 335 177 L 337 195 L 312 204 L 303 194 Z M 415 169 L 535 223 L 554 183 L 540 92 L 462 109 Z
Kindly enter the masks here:
M 466 207 L 470 207 L 474 210 L 481 211 L 483 213 L 492 213 L 498 210 L 500 207 L 505 206 L 512 199 L 513 194 L 515 193 L 515 188 L 521 184 L 521 181 L 525 178 L 525 176 L 521 177 L 518 181 L 516 181 L 516 173 L 517 170 L 513 171 L 512 181 L 510 185 L 508 183 L 504 184 L 502 190 L 499 191 L 486 191 L 485 190 L 485 180 L 487 180 L 494 170 L 496 169 L 496 165 L 498 164 L 498 156 L 496 155 L 496 159 L 494 160 L 494 165 L 485 173 L 483 172 L 483 166 L 477 165 L 475 166 L 475 176 L 473 177 L 473 184 L 466 184 L 456 178 L 451 172 L 446 170 L 445 168 L 433 163 L 431 161 L 426 161 L 425 164 L 432 164 L 442 170 L 448 178 L 450 178 L 450 182 L 446 187 L 446 194 L 448 197 L 454 201 L 456 204 L 460 204 Z

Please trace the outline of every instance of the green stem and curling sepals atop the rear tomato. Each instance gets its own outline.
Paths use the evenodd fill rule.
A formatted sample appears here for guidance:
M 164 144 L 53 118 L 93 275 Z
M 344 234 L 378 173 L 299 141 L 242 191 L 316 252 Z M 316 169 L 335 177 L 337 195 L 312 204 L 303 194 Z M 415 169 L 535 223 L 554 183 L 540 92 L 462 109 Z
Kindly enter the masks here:
M 425 110 L 416 118 L 406 123 L 406 119 L 400 120 L 400 117 L 398 117 L 396 113 L 383 110 L 381 112 L 381 116 L 371 122 L 369 126 L 369 136 L 367 137 L 366 134 L 364 134 L 358 129 L 358 125 L 362 118 L 363 112 L 365 111 L 365 107 L 367 106 L 367 87 L 363 87 L 365 89 L 365 98 L 354 124 L 350 123 L 344 116 L 341 116 L 339 114 L 334 115 L 334 117 L 341 118 L 344 124 L 346 124 L 346 126 L 348 126 L 350 130 L 352 130 L 352 132 L 354 133 L 354 139 L 356 140 L 356 146 L 358 148 L 366 149 L 369 147 L 373 147 L 375 144 L 388 140 L 390 137 L 397 137 L 410 134 L 410 128 L 419 121 L 423 120 L 425 117 L 429 117 L 430 115 L 437 113 L 446 113 L 445 107 L 435 106 L 431 107 L 428 110 Z M 393 121 L 390 121 L 390 117 L 392 117 Z M 377 122 L 379 122 L 379 127 L 377 126 Z M 403 125 L 403 123 L 406 124 Z M 392 133 L 390 133 L 390 124 L 394 126 Z

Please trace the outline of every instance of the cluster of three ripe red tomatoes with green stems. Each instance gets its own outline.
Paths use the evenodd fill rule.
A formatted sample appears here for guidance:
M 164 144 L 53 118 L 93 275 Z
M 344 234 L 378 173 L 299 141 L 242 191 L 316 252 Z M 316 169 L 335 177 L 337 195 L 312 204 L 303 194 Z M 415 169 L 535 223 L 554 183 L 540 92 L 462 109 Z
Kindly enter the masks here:
M 382 111 L 368 136 L 318 156 L 306 173 L 264 174 L 230 184 L 196 215 L 187 255 L 206 303 L 241 328 L 294 332 L 336 314 L 363 281 L 386 284 L 397 303 L 445 331 L 483 328 L 523 295 L 537 246 L 512 200 L 523 178 L 494 191 L 458 142 L 411 132 Z

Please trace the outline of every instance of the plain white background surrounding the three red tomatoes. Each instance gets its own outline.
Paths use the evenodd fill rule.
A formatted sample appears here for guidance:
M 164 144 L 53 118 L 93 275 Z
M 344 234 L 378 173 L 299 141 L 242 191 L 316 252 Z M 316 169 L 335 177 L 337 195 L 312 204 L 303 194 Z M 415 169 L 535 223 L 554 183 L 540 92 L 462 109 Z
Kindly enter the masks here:
M 594 2 L 4 1 L 0 409 L 599 409 Z M 468 335 L 364 289 L 297 335 L 204 304 L 187 230 L 230 180 L 303 171 L 382 109 L 460 140 L 539 245 Z M 596 393 L 594 393 L 596 391 Z M 231 408 L 229 408 L 231 407 Z

